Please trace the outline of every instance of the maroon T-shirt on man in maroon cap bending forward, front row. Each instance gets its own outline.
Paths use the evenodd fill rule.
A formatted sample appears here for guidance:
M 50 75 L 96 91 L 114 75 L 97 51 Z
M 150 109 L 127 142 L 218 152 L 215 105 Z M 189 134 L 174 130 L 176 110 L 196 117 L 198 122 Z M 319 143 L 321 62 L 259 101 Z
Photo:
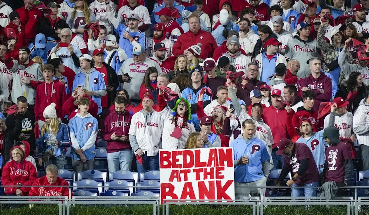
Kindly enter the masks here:
M 295 184 L 303 186 L 318 181 L 318 168 L 315 164 L 313 153 L 307 145 L 304 143 L 295 143 L 291 157 L 284 155 L 284 165 L 289 166 L 292 169 L 292 176 L 294 176 L 300 169 L 300 161 L 303 159 L 309 159 L 307 170 L 299 177 Z

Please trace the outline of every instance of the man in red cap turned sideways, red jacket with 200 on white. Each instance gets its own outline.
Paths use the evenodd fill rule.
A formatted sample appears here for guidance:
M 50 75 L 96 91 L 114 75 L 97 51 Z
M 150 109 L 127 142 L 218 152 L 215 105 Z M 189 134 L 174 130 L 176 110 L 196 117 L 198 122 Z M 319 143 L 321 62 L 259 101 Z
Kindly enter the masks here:
M 155 15 L 158 15 L 161 23 L 165 25 L 165 38 L 176 43 L 178 37 L 183 34 L 183 29 L 172 17 L 172 11 L 169 8 L 164 7 L 159 12 L 156 12 Z

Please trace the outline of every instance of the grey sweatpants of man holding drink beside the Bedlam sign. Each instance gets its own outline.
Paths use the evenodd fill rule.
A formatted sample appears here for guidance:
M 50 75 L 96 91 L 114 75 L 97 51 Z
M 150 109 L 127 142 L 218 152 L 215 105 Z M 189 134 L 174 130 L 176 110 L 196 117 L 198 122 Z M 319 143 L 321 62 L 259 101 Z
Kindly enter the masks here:
M 257 181 L 238 183 L 234 182 L 234 193 L 236 199 L 246 199 L 250 196 L 263 196 L 263 188 L 249 188 L 249 187 L 265 187 L 266 177 L 260 178 Z

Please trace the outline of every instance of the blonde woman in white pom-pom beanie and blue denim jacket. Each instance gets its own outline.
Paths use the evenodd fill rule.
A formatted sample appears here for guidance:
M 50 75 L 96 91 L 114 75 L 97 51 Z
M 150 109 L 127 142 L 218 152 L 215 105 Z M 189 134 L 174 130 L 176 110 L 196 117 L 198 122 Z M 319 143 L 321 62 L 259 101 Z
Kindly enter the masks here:
M 55 103 L 47 106 L 42 115 L 45 124 L 38 138 L 38 164 L 45 163 L 45 169 L 50 164 L 64 169 L 66 147 L 70 146 L 68 128 L 56 118 Z

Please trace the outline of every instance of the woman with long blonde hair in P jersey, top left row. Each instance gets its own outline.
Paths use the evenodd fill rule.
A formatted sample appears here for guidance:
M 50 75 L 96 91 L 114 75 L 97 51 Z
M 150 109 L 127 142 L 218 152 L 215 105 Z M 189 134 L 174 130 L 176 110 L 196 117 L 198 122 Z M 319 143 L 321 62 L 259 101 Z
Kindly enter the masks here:
M 86 1 L 76 1 L 73 12 L 68 14 L 66 20 L 66 23 L 69 25 L 70 29 L 72 29 L 72 32 L 83 37 L 83 34 L 86 31 L 86 25 L 89 25 L 92 22 L 96 22 L 96 17 L 90 11 Z

